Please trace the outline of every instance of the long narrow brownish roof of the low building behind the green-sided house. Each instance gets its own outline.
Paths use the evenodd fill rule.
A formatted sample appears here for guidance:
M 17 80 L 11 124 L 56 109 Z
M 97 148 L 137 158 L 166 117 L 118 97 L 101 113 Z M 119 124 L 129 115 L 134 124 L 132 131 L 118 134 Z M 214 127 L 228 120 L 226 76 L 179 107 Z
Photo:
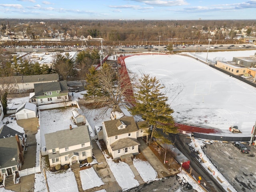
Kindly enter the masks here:
M 28 75 L 28 76 L 10 76 L 0 77 L 0 84 L 4 83 L 32 83 L 42 81 L 59 81 L 58 74 L 42 74 L 42 75 Z

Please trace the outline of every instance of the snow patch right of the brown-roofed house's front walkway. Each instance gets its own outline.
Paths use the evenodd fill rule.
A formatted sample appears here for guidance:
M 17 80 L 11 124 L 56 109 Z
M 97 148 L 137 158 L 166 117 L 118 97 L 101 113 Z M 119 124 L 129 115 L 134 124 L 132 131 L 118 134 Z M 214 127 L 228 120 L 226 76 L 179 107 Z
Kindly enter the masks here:
M 144 182 L 158 180 L 157 172 L 152 168 L 148 161 L 142 161 L 134 158 L 133 164 Z

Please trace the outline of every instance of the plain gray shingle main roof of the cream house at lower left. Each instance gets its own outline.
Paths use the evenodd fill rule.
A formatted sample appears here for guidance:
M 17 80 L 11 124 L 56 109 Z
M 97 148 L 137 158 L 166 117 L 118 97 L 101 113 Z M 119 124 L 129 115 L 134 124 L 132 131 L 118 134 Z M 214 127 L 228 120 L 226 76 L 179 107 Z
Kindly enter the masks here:
M 82 143 L 90 142 L 90 135 L 87 126 L 65 129 L 53 133 L 44 134 L 47 150 L 65 148 Z

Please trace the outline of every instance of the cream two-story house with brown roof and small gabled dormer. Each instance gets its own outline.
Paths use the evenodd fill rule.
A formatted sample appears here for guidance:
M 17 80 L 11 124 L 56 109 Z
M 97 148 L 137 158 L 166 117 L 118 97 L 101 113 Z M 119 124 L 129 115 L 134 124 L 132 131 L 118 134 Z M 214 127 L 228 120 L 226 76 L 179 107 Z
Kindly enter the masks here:
M 149 128 L 148 122 L 135 122 L 133 116 L 122 116 L 102 125 L 103 140 L 114 159 L 138 154 L 140 143 L 137 138 L 145 136 Z

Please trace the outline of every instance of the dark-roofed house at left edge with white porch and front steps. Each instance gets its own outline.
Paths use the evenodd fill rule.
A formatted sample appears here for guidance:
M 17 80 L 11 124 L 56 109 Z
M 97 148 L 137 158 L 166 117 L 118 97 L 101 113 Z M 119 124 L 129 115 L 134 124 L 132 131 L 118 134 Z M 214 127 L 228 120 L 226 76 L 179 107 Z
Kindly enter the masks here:
M 18 170 L 24 163 L 24 147 L 16 134 L 14 137 L 0 139 L 0 177 L 5 183 L 6 178 L 11 178 L 14 184 Z M 5 183 L 6 184 L 6 183 Z

